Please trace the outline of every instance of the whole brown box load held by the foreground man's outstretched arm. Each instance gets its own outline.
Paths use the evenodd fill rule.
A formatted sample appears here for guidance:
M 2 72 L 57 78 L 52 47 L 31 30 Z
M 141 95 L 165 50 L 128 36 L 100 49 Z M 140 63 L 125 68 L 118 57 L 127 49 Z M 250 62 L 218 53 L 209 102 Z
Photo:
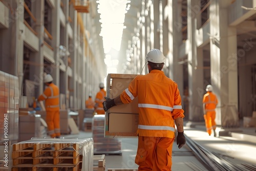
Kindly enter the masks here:
M 120 95 L 136 74 L 109 74 L 106 83 L 106 96 L 115 98 Z M 113 106 L 105 113 L 104 137 L 137 137 L 139 121 L 138 98 L 129 104 Z

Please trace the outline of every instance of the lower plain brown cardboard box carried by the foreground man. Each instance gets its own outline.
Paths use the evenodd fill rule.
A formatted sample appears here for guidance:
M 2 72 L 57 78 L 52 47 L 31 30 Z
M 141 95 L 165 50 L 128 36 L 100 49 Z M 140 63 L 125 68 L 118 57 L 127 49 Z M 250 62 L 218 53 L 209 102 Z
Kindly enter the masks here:
M 136 133 L 138 129 L 138 114 L 113 114 L 109 115 L 109 132 Z

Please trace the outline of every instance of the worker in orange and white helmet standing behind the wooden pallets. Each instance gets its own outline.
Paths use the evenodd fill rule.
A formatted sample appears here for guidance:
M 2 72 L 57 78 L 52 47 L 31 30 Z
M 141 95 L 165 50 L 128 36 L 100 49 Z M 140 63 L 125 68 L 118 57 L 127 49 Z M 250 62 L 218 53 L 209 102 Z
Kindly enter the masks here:
M 48 87 L 44 93 L 38 97 L 37 101 L 45 100 L 48 134 L 52 138 L 59 138 L 59 88 L 54 83 L 52 83 L 52 81 L 52 76 L 47 74 L 44 78 L 44 82 Z

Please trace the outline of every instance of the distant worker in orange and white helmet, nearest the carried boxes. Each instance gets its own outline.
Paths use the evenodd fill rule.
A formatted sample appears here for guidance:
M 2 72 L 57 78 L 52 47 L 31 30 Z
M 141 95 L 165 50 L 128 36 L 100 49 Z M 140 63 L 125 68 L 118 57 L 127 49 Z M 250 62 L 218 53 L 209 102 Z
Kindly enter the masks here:
M 104 83 L 103 82 L 100 82 L 99 83 L 99 88 L 100 88 L 100 91 L 96 94 L 96 97 L 95 97 L 95 112 L 98 114 L 98 115 L 105 115 L 105 111 L 103 109 L 103 104 L 102 102 L 105 101 L 104 97 L 106 96 L 106 91 L 104 90 Z

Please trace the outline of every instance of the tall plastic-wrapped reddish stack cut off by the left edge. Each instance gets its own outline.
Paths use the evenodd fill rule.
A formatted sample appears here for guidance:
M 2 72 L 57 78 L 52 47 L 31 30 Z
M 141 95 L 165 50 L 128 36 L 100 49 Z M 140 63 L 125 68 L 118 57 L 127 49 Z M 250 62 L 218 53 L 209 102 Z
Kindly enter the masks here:
M 10 159 L 11 145 L 18 142 L 19 102 L 18 77 L 0 71 L 0 170 Z

